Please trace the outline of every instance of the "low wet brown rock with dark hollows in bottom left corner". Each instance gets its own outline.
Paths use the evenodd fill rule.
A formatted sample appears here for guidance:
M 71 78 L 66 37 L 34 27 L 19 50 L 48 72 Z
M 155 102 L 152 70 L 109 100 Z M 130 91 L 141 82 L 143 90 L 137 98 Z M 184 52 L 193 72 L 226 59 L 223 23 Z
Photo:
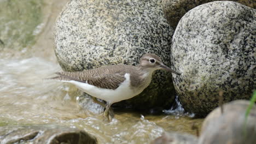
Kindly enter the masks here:
M 97 143 L 83 130 L 56 125 L 0 127 L 0 143 Z

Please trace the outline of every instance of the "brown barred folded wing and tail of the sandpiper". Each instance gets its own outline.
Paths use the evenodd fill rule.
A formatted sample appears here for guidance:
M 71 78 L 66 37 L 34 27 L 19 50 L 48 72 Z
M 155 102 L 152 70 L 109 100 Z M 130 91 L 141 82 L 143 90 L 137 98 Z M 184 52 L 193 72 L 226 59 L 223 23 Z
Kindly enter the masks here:
M 57 80 L 74 80 L 86 82 L 99 88 L 116 89 L 120 83 L 125 81 L 124 74 L 127 65 L 111 65 L 110 67 L 101 67 L 98 69 L 78 71 L 78 72 L 60 72 L 59 76 L 52 79 Z

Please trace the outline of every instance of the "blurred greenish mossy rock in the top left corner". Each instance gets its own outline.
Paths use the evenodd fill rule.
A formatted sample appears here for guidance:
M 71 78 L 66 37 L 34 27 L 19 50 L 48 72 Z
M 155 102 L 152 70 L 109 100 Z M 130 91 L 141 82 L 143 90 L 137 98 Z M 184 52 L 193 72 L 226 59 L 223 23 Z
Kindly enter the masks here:
M 21 50 L 35 43 L 42 0 L 0 1 L 0 48 Z

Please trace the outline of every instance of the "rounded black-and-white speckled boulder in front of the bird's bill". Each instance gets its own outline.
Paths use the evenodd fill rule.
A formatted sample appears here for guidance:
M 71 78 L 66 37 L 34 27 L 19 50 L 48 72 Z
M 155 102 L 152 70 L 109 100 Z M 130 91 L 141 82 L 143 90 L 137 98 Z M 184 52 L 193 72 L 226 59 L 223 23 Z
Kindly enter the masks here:
M 256 10 L 219 1 L 200 5 L 179 22 L 171 57 L 182 75 L 174 87 L 185 110 L 206 115 L 224 101 L 249 99 L 255 85 Z

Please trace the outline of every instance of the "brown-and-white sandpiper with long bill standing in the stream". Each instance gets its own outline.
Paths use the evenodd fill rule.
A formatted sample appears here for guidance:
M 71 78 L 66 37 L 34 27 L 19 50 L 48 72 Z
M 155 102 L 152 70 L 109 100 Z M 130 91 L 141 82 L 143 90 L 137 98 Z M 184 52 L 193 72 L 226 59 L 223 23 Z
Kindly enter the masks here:
M 137 66 L 117 64 L 77 72 L 60 72 L 52 79 L 72 83 L 92 97 L 106 101 L 104 116 L 109 120 L 110 106 L 141 93 L 149 86 L 153 72 L 158 69 L 179 75 L 164 65 L 159 56 L 147 53 L 141 57 Z

